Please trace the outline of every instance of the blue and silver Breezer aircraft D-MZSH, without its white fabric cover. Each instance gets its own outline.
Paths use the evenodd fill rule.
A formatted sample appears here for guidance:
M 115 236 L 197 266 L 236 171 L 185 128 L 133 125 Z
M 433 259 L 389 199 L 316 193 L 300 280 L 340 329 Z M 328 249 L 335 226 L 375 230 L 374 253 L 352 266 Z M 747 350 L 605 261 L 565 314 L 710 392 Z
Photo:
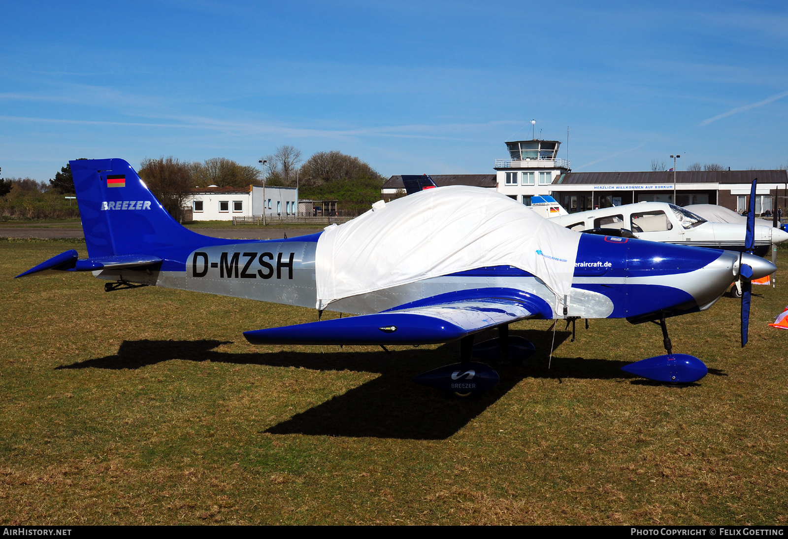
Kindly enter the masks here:
M 458 394 L 483 391 L 498 381 L 492 366 L 473 361 L 474 357 L 494 363 L 530 355 L 533 345 L 508 335 L 509 324 L 526 318 L 626 318 L 632 323 L 658 323 L 667 355 L 635 362 L 625 370 L 657 381 L 696 381 L 706 374 L 706 367 L 697 358 L 672 353 L 665 319 L 708 309 L 740 274 L 753 279 L 776 269 L 751 253 L 581 234 L 539 218 L 546 223 L 544 226 L 570 235 L 565 237 L 577 245 L 574 275 L 571 269 L 568 273 L 574 298 L 571 304 L 566 296 L 563 305 L 556 303 L 556 294 L 535 273 L 498 264 L 426 275 L 320 307 L 316 303 L 316 270 L 322 262 L 318 258 L 316 263 L 316 254 L 321 236 L 328 232 L 262 241 L 202 236 L 170 217 L 128 162 L 95 159 L 72 161 L 70 165 L 87 258 L 79 258 L 73 250 L 65 251 L 17 277 L 91 271 L 108 281 L 106 292 L 155 285 L 302 307 L 318 305 L 320 309 L 357 315 L 247 331 L 244 336 L 253 344 L 385 347 L 459 340 L 458 363 L 414 378 Z M 410 199 L 413 206 L 421 200 L 418 197 L 434 196 L 430 193 L 441 189 L 452 188 L 419 192 L 404 199 Z M 513 205 L 511 211 L 530 212 L 503 195 L 481 189 L 478 192 L 479 197 L 504 199 L 503 203 Z M 362 218 L 366 217 L 358 217 Z M 435 233 L 429 227 L 415 232 L 421 236 Z M 485 237 L 481 240 L 484 243 Z M 515 245 L 514 251 L 517 248 Z M 536 253 L 541 257 L 537 257 L 539 261 L 552 258 L 567 262 L 542 250 Z M 749 313 L 749 293 L 745 296 L 742 346 Z M 499 330 L 497 339 L 474 346 L 475 334 L 493 328 Z

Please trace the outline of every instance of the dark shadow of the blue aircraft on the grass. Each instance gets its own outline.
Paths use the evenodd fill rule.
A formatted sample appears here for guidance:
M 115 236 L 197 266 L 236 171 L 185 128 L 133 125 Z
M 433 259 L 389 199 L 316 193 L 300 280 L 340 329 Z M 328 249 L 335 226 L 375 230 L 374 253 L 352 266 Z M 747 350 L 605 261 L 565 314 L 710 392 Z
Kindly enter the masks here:
M 633 378 L 621 370 L 627 362 L 606 359 L 552 358 L 548 369 L 548 353 L 552 332 L 540 330 L 512 331 L 533 342 L 536 354 L 522 366 L 496 366 L 500 384 L 481 395 L 459 399 L 445 392 L 417 385 L 411 378 L 426 370 L 455 362 L 459 343 L 444 344 L 437 350 L 409 348 L 392 351 L 354 351 L 355 347 L 331 351 L 233 354 L 214 348 L 229 341 L 221 340 L 135 340 L 124 341 L 117 355 L 87 359 L 58 369 L 139 369 L 172 359 L 211 361 L 233 364 L 303 367 L 312 370 L 355 370 L 380 373 L 374 380 L 334 396 L 292 418 L 269 427 L 274 434 L 307 434 L 345 437 L 381 437 L 421 440 L 443 440 L 451 437 L 470 420 L 504 396 L 523 378 L 615 379 Z M 496 336 L 482 333 L 478 342 Z M 571 332 L 556 332 L 556 348 Z M 317 347 L 315 347 L 317 348 Z M 656 383 L 656 382 L 655 382 Z

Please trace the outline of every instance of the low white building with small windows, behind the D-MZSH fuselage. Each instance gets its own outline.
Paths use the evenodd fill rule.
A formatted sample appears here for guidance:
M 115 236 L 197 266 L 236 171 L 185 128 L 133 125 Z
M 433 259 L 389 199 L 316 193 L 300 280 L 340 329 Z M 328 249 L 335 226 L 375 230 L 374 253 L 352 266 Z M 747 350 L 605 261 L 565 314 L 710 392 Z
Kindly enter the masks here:
M 263 211 L 269 217 L 296 217 L 298 189 L 286 187 L 195 188 L 185 201 L 194 221 L 232 221 L 232 217 L 254 217 Z

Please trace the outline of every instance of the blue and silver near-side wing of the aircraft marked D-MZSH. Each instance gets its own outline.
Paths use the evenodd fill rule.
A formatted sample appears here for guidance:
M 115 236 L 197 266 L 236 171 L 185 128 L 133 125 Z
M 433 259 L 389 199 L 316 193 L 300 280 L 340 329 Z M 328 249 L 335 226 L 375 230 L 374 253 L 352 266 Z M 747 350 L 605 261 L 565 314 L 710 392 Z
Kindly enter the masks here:
M 252 344 L 438 344 L 525 318 L 552 317 L 541 298 L 428 298 L 377 314 L 244 332 Z M 429 300 L 433 299 L 430 303 Z M 546 307 L 546 310 L 545 310 Z

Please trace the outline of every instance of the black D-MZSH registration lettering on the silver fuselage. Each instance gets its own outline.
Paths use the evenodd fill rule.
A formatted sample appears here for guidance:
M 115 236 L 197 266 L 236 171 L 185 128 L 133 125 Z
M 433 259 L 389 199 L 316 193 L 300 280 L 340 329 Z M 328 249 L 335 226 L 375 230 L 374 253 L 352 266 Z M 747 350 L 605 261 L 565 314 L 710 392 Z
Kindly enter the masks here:
M 282 269 L 285 268 L 288 270 L 287 278 L 293 278 L 293 258 L 295 256 L 296 253 L 290 253 L 288 261 L 283 262 L 282 253 L 277 253 L 277 279 L 282 278 Z M 260 277 L 261 279 L 270 279 L 274 273 L 273 253 L 221 253 L 218 262 L 210 262 L 206 252 L 198 251 L 192 255 L 191 277 L 205 277 L 209 268 L 219 269 L 220 278 L 256 279 Z

